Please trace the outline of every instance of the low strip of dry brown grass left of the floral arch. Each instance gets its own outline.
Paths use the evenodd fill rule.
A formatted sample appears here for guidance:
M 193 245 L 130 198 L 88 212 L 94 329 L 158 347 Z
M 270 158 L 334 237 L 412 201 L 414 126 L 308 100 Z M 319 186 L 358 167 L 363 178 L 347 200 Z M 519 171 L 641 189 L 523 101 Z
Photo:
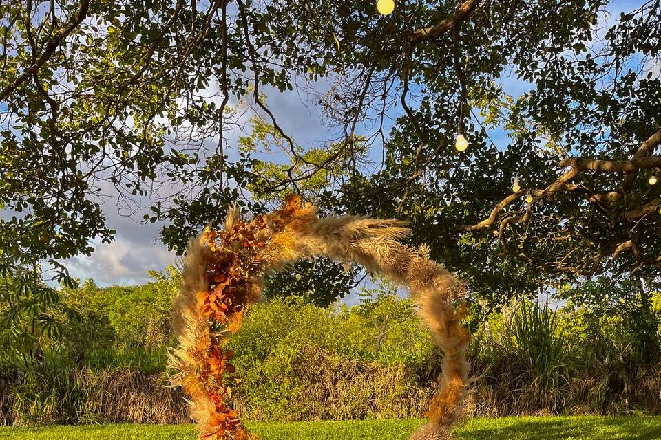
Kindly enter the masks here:
M 180 390 L 162 373 L 121 368 L 0 369 L 0 426 L 190 423 Z

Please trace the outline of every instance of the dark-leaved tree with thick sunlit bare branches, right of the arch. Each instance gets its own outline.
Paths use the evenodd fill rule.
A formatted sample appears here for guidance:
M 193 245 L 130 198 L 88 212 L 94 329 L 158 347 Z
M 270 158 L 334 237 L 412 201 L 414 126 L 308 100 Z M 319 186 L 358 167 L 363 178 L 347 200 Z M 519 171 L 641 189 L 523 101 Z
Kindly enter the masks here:
M 658 276 L 660 187 L 648 179 L 661 163 L 659 2 L 614 24 L 604 6 L 465 1 L 415 16 L 399 5 L 391 23 L 437 25 L 404 30 L 397 50 L 384 45 L 388 65 L 359 65 L 337 87 L 344 120 L 387 116 L 388 89 L 403 113 L 383 170 L 352 176 L 328 203 L 410 219 L 414 240 L 487 299 L 579 276 Z M 352 97 L 376 105 L 349 118 Z M 468 151 L 452 148 L 457 131 Z

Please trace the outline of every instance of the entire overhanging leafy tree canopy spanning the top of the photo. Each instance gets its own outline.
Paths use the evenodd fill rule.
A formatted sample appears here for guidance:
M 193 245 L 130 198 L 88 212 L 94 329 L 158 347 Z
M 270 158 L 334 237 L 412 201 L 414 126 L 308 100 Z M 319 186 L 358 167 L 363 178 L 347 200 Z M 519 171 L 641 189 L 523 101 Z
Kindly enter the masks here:
M 619 8 L 3 3 L 1 258 L 90 254 L 114 234 L 108 199 L 149 208 L 181 252 L 234 201 L 263 212 L 303 192 L 326 212 L 410 220 L 412 241 L 487 300 L 580 276 L 651 283 L 660 2 Z M 278 124 L 266 98 L 294 92 L 321 109 L 322 144 Z

